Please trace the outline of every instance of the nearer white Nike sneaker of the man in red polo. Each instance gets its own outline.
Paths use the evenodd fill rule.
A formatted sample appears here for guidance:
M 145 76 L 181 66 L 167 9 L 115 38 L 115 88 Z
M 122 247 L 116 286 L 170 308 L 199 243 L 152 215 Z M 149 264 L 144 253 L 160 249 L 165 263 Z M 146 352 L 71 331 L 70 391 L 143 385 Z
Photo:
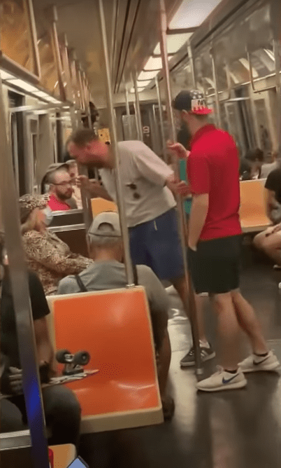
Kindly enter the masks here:
M 222 390 L 235 390 L 247 385 L 247 380 L 243 372 L 230 373 L 220 368 L 218 372 L 212 374 L 209 378 L 201 380 L 196 387 L 202 392 L 220 392 Z

